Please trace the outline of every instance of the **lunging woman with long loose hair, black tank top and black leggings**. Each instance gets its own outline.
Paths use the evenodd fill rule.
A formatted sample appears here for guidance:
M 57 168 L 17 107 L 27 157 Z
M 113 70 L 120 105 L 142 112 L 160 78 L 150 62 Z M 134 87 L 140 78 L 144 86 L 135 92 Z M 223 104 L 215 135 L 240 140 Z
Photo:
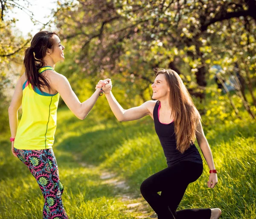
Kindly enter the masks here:
M 124 110 L 112 92 L 106 94 L 111 110 L 119 121 L 136 120 L 146 115 L 154 119 L 155 131 L 168 167 L 145 179 L 140 191 L 159 219 L 218 219 L 221 215 L 219 208 L 177 211 L 187 186 L 203 172 L 203 161 L 195 147 L 195 138 L 209 166 L 209 188 L 214 188 L 218 182 L 217 171 L 204 136 L 200 114 L 180 76 L 171 69 L 155 69 L 155 72 L 156 77 L 151 85 L 154 100 L 144 102 L 139 107 Z M 99 81 L 96 89 L 105 84 Z

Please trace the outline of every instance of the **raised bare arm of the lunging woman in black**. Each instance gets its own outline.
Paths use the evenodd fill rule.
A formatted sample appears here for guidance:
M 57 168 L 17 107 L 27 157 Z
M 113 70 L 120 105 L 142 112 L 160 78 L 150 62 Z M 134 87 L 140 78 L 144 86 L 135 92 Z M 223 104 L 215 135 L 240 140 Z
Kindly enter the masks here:
M 140 119 L 146 115 L 150 115 L 150 107 L 152 107 L 152 104 L 154 104 L 154 101 L 147 101 L 138 107 L 124 110 L 119 102 L 117 102 L 112 92 L 106 94 L 106 98 L 111 110 L 113 111 L 113 114 L 115 115 L 116 119 L 118 119 L 118 121 L 131 121 Z

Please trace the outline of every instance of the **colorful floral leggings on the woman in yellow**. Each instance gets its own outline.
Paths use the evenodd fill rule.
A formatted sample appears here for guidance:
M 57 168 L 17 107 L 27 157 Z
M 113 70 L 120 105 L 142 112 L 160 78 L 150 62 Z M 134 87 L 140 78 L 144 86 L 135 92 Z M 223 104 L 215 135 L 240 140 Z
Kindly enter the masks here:
M 52 149 L 19 150 L 18 158 L 29 168 L 44 196 L 43 219 L 67 219 L 61 195 L 63 186 L 58 176 L 58 166 Z

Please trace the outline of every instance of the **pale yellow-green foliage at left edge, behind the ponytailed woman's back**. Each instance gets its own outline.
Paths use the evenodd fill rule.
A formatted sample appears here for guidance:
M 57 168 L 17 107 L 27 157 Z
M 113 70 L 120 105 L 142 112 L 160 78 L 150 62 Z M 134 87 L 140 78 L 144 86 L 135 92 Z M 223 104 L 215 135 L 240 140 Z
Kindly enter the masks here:
M 24 0 L 26 1 L 26 0 Z M 6 131 L 8 124 L 8 91 L 13 89 L 13 81 L 20 74 L 22 49 L 29 43 L 21 32 L 15 29 L 15 19 L 7 20 L 6 11 L 14 7 L 24 9 L 19 3 L 11 0 L 0 1 L 0 132 Z

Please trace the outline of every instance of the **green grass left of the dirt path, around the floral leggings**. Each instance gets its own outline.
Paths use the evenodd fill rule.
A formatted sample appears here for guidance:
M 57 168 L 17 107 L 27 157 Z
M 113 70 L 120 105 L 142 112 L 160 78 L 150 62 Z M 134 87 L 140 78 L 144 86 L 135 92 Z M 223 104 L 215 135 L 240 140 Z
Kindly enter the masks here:
M 1 141 L 0 218 L 42 218 L 44 199 L 29 170 L 9 152 L 10 144 Z M 70 218 L 132 219 L 122 213 L 126 202 L 115 197 L 114 188 L 104 185 L 100 173 L 83 168 L 75 154 L 55 150 L 61 182 L 64 184 L 63 202 Z

